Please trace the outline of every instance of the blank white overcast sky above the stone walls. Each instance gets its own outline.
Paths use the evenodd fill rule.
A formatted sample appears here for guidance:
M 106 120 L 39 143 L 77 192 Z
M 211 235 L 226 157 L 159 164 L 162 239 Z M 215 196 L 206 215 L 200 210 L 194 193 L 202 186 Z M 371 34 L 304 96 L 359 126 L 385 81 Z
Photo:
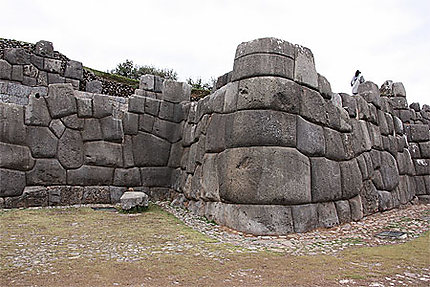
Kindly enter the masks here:
M 0 0 L 0 37 L 35 43 L 106 71 L 133 60 L 209 80 L 233 67 L 238 44 L 276 37 L 310 48 L 334 92 L 356 69 L 401 81 L 430 104 L 429 0 Z

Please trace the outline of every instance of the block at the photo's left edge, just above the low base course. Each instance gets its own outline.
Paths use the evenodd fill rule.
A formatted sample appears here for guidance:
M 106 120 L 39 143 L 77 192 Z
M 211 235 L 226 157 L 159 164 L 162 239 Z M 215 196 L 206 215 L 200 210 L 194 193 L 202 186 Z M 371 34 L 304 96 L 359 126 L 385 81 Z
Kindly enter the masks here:
M 24 191 L 25 173 L 0 168 L 0 196 L 19 196 Z

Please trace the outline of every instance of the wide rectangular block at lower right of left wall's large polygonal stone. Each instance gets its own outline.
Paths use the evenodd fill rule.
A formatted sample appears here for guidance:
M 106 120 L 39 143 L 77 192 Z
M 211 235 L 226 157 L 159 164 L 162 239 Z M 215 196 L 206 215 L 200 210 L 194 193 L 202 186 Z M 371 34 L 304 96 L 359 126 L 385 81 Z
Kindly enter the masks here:
M 122 167 L 122 147 L 105 141 L 86 142 L 84 144 L 84 164 L 109 167 Z

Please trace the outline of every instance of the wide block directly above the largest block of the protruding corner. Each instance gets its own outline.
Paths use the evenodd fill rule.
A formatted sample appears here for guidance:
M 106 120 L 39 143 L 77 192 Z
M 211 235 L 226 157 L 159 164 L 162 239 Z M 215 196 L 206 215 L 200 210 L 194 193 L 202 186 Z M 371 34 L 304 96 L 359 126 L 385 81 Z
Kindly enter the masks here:
M 296 145 L 296 116 L 279 111 L 238 111 L 226 119 L 229 147 Z M 210 135 L 209 135 L 210 136 Z

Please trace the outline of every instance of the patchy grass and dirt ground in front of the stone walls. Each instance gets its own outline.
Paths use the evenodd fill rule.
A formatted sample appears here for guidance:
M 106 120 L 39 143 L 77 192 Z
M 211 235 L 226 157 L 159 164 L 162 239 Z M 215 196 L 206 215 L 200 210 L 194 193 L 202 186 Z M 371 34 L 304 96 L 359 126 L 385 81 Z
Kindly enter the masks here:
M 220 242 L 155 205 L 0 210 L 0 286 L 429 286 L 429 271 L 429 232 L 294 256 Z

